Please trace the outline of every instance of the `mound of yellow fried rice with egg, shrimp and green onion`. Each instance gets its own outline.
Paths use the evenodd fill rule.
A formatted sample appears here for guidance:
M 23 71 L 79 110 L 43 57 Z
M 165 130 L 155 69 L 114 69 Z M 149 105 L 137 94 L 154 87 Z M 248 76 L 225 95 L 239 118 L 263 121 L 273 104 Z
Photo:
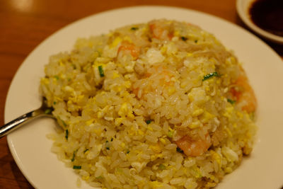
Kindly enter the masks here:
M 101 188 L 212 188 L 250 154 L 256 99 L 235 55 L 196 25 L 154 20 L 80 38 L 40 91 L 52 152 Z

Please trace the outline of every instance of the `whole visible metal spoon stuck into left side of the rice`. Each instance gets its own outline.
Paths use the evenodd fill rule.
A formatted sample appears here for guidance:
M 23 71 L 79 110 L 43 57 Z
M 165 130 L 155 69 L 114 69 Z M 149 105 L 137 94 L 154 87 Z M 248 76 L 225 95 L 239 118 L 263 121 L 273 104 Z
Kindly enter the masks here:
M 13 130 L 16 130 L 18 127 L 21 127 L 22 125 L 29 122 L 30 120 L 33 120 L 34 118 L 39 118 L 42 116 L 55 118 L 52 115 L 52 111 L 53 111 L 53 108 L 48 107 L 46 98 L 43 98 L 42 105 L 40 108 L 38 108 L 37 110 L 33 110 L 29 113 L 26 113 L 24 115 L 21 115 L 15 120 L 12 120 L 11 122 L 8 122 L 7 124 L 1 126 L 0 127 L 0 138 L 4 137 L 6 134 L 12 132 Z

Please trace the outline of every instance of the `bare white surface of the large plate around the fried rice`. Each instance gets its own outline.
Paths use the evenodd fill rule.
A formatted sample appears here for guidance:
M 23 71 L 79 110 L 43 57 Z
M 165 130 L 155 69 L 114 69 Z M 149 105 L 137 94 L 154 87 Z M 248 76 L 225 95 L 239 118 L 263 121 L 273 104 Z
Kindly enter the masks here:
M 264 42 L 221 18 L 183 8 L 139 6 L 106 11 L 76 21 L 42 42 L 25 59 L 8 91 L 5 121 L 40 107 L 40 77 L 48 57 L 71 50 L 76 38 L 154 18 L 169 18 L 200 25 L 214 33 L 244 62 L 258 98 L 258 140 L 250 157 L 224 178 L 217 188 L 279 188 L 283 184 L 283 88 L 282 59 Z M 76 188 L 76 174 L 52 154 L 46 134 L 54 132 L 54 120 L 40 118 L 8 135 L 8 145 L 18 167 L 35 188 Z M 91 188 L 83 183 L 82 188 Z

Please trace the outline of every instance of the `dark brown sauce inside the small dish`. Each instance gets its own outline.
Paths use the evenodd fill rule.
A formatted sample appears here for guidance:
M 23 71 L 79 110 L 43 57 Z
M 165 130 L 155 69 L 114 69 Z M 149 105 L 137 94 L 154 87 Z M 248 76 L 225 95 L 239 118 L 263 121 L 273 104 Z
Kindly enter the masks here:
M 256 0 L 249 13 L 255 25 L 283 37 L 283 0 Z

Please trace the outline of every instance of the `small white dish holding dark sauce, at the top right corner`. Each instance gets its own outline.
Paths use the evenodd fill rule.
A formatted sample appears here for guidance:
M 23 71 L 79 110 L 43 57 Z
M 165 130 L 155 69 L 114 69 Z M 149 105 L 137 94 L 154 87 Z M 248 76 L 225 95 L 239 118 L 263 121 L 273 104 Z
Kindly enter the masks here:
M 263 38 L 283 44 L 283 0 L 237 0 L 238 15 Z

